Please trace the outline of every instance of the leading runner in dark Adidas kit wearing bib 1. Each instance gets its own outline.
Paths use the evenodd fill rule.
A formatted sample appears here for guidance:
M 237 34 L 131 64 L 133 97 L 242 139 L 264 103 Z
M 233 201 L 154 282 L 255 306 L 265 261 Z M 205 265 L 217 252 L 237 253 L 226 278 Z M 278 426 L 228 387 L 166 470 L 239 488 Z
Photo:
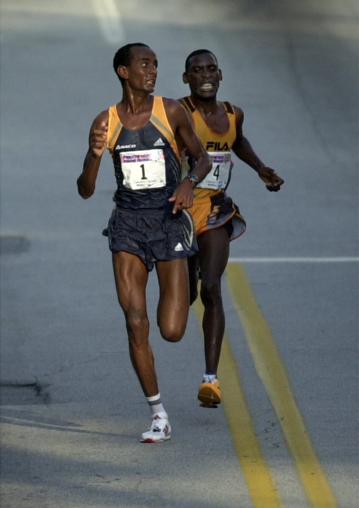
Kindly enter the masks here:
M 84 167 L 77 180 L 79 194 L 94 193 L 101 157 L 113 157 L 116 206 L 109 220 L 117 296 L 123 309 L 130 358 L 152 413 L 151 428 L 142 442 L 171 437 L 168 415 L 158 389 L 149 343 L 146 286 L 155 266 L 160 297 L 157 323 L 171 342 L 185 332 L 189 312 L 187 256 L 197 250 L 191 215 L 194 180 L 201 181 L 211 161 L 199 142 L 183 106 L 155 97 L 157 57 L 147 45 L 127 44 L 114 57 L 122 100 L 93 121 Z M 177 144 L 196 160 L 193 175 L 181 182 Z M 128 397 L 123 395 L 126 402 Z

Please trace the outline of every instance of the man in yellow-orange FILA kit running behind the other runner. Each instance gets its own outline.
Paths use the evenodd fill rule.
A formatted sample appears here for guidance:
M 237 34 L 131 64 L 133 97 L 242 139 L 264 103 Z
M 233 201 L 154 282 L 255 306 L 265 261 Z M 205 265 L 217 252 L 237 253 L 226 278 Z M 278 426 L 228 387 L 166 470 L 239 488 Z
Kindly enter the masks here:
M 263 164 L 243 136 L 243 111 L 217 100 L 222 72 L 213 53 L 206 49 L 193 51 L 187 57 L 183 81 L 190 86 L 191 96 L 180 102 L 191 115 L 195 132 L 212 158 L 211 171 L 194 189 L 196 198 L 190 212 L 199 252 L 189 258 L 191 303 L 197 297 L 199 268 L 204 305 L 205 373 L 198 398 L 203 406 L 212 407 L 221 402 L 217 379 L 225 329 L 221 278 L 228 262 L 230 241 L 245 231 L 244 218 L 226 194 L 233 166 L 231 151 L 257 171 L 268 190 L 276 192 L 283 180 Z M 193 167 L 191 157 L 189 165 Z

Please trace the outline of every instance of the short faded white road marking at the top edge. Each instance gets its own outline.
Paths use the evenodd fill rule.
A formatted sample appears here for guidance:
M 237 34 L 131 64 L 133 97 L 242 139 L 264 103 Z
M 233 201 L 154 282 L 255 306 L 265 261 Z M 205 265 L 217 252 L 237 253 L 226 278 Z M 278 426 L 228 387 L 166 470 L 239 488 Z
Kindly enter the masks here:
M 92 6 L 105 41 L 121 44 L 125 40 L 125 29 L 115 0 L 92 0 Z

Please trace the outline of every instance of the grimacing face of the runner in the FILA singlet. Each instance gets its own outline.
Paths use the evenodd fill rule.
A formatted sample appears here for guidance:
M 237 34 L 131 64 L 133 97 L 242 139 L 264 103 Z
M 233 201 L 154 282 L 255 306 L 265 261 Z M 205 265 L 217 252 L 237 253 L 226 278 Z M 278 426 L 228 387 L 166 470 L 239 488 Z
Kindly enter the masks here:
M 222 73 L 216 58 L 210 53 L 202 53 L 190 59 L 190 67 L 184 78 L 187 78 L 192 96 L 202 100 L 212 99 L 216 97 Z

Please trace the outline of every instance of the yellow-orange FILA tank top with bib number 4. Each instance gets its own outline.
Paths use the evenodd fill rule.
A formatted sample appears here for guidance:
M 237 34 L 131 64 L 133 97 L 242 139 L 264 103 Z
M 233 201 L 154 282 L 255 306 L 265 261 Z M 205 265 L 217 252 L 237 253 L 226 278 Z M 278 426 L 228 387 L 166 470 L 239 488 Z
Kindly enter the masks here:
M 191 97 L 183 97 L 180 102 L 190 113 L 194 130 L 212 159 L 212 169 L 194 189 L 197 198 L 205 198 L 225 192 L 229 185 L 233 162 L 231 150 L 237 137 L 236 114 L 232 104 L 223 102 L 228 118 L 229 128 L 224 134 L 213 132 L 206 124 L 200 111 L 195 107 Z M 190 159 L 190 167 L 193 161 Z

